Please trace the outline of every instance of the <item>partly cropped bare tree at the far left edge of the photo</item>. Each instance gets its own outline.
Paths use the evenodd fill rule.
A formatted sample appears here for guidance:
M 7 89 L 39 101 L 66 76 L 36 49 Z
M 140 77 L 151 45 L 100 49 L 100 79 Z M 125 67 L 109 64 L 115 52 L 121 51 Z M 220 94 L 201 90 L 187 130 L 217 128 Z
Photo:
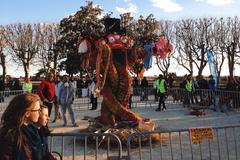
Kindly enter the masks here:
M 3 36 L 3 26 L 0 26 L 0 65 L 2 66 L 2 78 L 5 80 L 6 77 L 6 55 L 4 54 L 3 50 L 6 46 L 5 39 Z

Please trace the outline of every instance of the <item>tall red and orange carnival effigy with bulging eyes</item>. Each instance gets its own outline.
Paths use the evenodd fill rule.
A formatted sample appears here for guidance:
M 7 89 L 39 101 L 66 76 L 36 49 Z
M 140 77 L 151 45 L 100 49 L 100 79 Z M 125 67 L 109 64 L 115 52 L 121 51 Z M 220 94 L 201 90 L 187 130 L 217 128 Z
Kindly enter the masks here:
M 117 33 L 111 29 L 106 33 L 106 36 L 100 39 L 91 36 L 79 38 L 78 43 L 81 67 L 87 69 L 90 64 L 96 67 L 95 91 L 103 96 L 101 114 L 97 121 L 109 127 L 121 121 L 134 122 L 138 125 L 144 120 L 128 109 L 132 83 L 129 68 L 136 62 L 143 62 L 147 52 L 143 48 L 133 46 L 132 39 L 125 33 Z M 153 43 L 152 46 L 150 49 L 156 47 L 161 51 L 161 55 L 163 52 L 169 53 L 172 49 L 165 41 L 164 46 L 167 46 L 168 50 L 164 46 L 159 46 L 159 43 Z

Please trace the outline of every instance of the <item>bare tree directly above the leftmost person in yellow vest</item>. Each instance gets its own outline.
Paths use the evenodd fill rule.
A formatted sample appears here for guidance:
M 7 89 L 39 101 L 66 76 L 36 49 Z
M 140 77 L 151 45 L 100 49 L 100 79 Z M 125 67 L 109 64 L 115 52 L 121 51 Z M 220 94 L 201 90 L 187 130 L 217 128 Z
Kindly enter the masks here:
M 4 37 L 14 62 L 23 65 L 25 78 L 39 51 L 40 24 L 11 24 L 4 28 Z

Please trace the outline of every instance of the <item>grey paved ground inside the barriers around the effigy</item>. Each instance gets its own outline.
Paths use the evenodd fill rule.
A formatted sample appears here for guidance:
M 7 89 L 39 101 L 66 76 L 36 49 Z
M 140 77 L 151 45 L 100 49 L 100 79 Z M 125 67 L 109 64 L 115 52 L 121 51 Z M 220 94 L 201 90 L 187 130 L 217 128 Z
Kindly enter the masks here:
M 143 107 L 143 103 L 139 104 L 139 107 L 135 107 L 132 110 L 138 113 L 144 118 L 150 118 L 155 121 L 157 126 L 166 129 L 180 129 L 191 128 L 199 126 L 222 126 L 230 124 L 240 123 L 240 112 L 228 111 L 228 112 L 214 112 L 210 109 L 205 109 L 206 115 L 197 117 L 190 115 L 191 109 L 183 108 L 179 104 L 167 104 L 167 110 L 162 112 L 156 112 L 156 105 L 152 107 Z M 75 108 L 77 105 L 75 105 Z M 56 123 L 50 123 L 50 127 L 54 128 L 54 132 L 70 132 L 77 131 L 80 128 L 88 126 L 88 122 L 82 120 L 84 116 L 96 117 L 99 115 L 98 110 L 88 110 L 87 106 L 81 107 L 81 109 L 75 109 L 76 121 L 79 124 L 78 128 L 71 127 L 69 121 L 68 127 L 62 127 L 62 120 L 58 120 Z M 52 117 L 51 117 L 52 120 Z

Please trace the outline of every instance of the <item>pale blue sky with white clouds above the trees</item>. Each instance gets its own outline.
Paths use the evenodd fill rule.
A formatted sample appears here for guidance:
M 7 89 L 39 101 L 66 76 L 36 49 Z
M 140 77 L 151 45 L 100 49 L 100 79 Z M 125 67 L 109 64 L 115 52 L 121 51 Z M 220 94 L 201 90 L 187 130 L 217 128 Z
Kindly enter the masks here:
M 99 5 L 104 13 L 113 12 L 116 18 L 125 12 L 131 12 L 136 19 L 140 15 L 153 14 L 158 20 L 240 14 L 240 0 L 93 0 L 93 4 Z M 0 25 L 60 22 L 85 5 L 85 0 L 0 0 Z M 8 73 L 23 75 L 21 67 L 16 68 L 17 65 L 12 63 L 7 65 L 12 66 Z

